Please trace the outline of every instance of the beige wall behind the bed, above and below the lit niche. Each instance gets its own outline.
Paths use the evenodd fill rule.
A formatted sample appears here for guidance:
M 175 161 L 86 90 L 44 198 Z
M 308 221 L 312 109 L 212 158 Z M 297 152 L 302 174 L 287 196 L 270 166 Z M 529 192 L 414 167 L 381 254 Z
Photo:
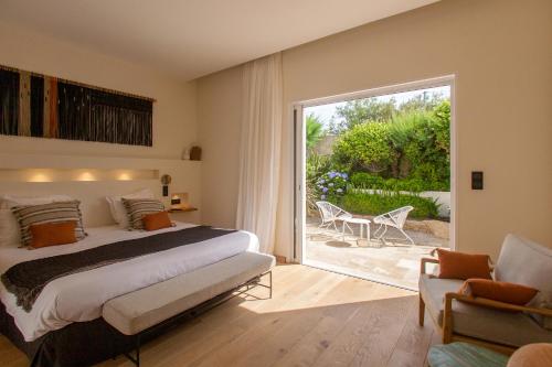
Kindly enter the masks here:
M 182 150 L 197 141 L 194 82 L 182 83 L 158 71 L 2 22 L 0 50 L 0 64 L 6 66 L 157 99 L 153 104 L 153 147 L 0 136 L 0 169 L 15 163 L 17 168 L 153 169 L 160 174 L 173 176 L 171 192 L 189 192 L 192 204 L 201 203 L 201 163 L 180 161 Z M 103 214 L 107 213 L 103 196 L 140 187 L 150 187 L 156 194 L 161 192 L 158 180 L 22 184 L 0 180 L 0 194 L 42 194 L 51 191 L 77 197 L 84 195 L 86 197 L 78 198 L 91 205 L 89 213 Z M 201 211 L 190 214 L 190 220 L 199 222 L 200 214 Z M 85 222 L 105 225 L 109 219 L 85 218 Z

